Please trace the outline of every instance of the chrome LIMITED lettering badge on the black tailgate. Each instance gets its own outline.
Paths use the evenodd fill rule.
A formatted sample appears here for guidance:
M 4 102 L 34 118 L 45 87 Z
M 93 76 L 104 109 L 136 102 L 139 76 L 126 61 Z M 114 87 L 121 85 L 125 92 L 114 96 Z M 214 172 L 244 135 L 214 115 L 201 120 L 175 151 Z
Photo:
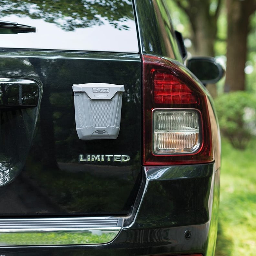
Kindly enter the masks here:
M 129 155 L 79 155 L 79 162 L 128 162 Z

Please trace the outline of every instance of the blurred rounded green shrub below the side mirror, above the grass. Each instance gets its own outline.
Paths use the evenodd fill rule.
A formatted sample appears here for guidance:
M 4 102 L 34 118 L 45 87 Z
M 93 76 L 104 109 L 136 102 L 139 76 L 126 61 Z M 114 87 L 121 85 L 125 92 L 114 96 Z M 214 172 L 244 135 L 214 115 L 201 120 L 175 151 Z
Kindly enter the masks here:
M 224 93 L 215 100 L 220 131 L 238 149 L 256 135 L 256 95 L 245 91 Z

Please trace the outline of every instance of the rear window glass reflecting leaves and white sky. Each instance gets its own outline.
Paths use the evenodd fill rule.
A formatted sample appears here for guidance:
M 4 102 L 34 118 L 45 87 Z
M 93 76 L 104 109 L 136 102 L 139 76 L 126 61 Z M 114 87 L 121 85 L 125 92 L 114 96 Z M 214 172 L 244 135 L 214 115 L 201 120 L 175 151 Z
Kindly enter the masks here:
M 139 51 L 130 0 L 0 0 L 0 20 L 36 27 L 0 26 L 1 48 Z

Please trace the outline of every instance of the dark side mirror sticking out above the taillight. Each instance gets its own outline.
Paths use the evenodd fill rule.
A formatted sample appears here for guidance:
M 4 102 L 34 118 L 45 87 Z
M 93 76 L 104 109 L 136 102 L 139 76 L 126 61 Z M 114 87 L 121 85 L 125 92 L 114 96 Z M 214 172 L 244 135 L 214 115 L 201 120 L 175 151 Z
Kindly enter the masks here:
M 186 66 L 203 84 L 216 83 L 225 75 L 223 67 L 212 57 L 193 57 Z

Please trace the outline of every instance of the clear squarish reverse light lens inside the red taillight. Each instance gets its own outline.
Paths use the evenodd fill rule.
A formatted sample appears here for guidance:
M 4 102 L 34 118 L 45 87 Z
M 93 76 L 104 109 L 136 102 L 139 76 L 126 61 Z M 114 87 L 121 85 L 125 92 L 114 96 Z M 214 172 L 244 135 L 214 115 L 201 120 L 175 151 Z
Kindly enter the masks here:
M 191 154 L 200 146 L 199 112 L 191 109 L 153 110 L 155 155 Z

